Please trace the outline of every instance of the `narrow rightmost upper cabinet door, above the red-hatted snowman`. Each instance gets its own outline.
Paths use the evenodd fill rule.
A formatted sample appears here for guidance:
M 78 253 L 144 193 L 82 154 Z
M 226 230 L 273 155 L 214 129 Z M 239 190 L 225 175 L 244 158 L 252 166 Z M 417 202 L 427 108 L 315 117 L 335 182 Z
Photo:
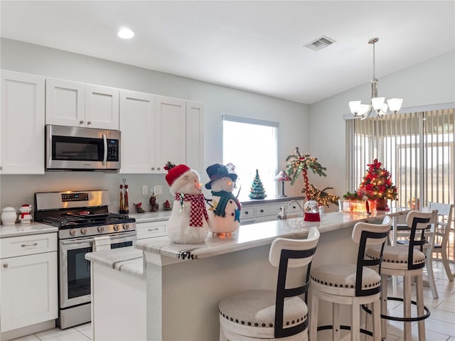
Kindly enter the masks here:
M 186 103 L 186 163 L 202 174 L 204 166 L 204 104 Z

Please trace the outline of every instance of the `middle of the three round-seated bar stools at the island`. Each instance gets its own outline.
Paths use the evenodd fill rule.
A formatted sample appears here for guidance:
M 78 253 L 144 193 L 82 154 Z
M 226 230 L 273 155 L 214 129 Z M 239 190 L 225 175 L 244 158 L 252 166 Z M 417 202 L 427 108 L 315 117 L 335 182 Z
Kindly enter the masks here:
M 311 271 L 310 340 L 316 341 L 319 330 L 332 330 L 332 340 L 340 340 L 341 329 L 350 330 L 350 340 L 360 340 L 360 332 L 381 340 L 380 291 L 381 277 L 368 266 L 380 266 L 382 249 L 387 241 L 392 220 L 386 216 L 382 224 L 358 222 L 353 228 L 352 239 L 358 247 L 357 264 L 323 264 Z M 377 245 L 378 259 L 365 258 L 365 249 Z M 318 326 L 319 300 L 331 302 L 332 325 Z M 373 303 L 373 332 L 360 330 L 360 305 Z M 340 305 L 351 305 L 350 326 L 340 325 Z

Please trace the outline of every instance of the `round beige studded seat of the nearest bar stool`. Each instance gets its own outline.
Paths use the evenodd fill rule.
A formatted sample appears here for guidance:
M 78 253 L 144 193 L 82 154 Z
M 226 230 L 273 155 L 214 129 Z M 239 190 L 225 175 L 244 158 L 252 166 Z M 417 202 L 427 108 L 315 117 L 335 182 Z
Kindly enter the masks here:
M 257 330 L 262 329 L 262 337 L 274 338 L 275 299 L 274 290 L 250 290 L 235 293 L 220 302 L 220 319 L 223 317 L 231 323 L 238 323 L 238 330 L 245 336 L 255 337 Z M 283 325 L 293 327 L 308 318 L 308 308 L 300 297 L 284 300 Z M 245 328 L 242 328 L 244 326 Z

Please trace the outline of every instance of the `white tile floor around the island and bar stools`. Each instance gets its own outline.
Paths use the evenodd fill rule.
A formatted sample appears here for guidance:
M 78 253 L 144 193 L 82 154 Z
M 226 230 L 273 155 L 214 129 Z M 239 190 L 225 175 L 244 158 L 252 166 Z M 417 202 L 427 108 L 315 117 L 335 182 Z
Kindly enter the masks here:
M 454 264 L 451 264 L 455 271 Z M 439 298 L 435 300 L 428 287 L 424 287 L 425 305 L 431 310 L 431 315 L 425 320 L 427 341 L 455 341 L 455 281 L 449 282 L 441 262 L 434 261 L 434 278 L 436 280 Z M 388 283 L 389 293 L 392 293 L 391 281 Z M 402 297 L 401 281 L 398 281 L 397 296 Z M 415 295 L 414 298 L 415 299 Z M 397 301 L 389 302 L 391 315 L 402 313 L 402 303 Z M 398 316 L 398 315 L 397 315 Z M 318 340 L 328 341 L 329 338 L 319 332 Z M 417 323 L 412 325 L 412 340 L 418 340 Z M 87 341 L 92 337 L 92 324 L 78 325 L 74 328 L 60 330 L 58 328 L 37 332 L 33 335 L 20 337 L 14 341 Z M 386 341 L 404 341 L 403 325 L 391 321 L 387 327 Z M 128 340 L 132 341 L 132 340 Z

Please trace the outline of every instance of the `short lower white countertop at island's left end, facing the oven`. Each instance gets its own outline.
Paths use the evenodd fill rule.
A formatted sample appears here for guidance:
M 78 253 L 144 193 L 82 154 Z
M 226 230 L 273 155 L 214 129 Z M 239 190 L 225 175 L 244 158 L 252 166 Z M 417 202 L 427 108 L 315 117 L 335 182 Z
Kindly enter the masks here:
M 90 252 L 85 254 L 85 259 L 127 274 L 145 278 L 142 251 L 134 249 L 134 247 L 120 247 L 119 249 Z

